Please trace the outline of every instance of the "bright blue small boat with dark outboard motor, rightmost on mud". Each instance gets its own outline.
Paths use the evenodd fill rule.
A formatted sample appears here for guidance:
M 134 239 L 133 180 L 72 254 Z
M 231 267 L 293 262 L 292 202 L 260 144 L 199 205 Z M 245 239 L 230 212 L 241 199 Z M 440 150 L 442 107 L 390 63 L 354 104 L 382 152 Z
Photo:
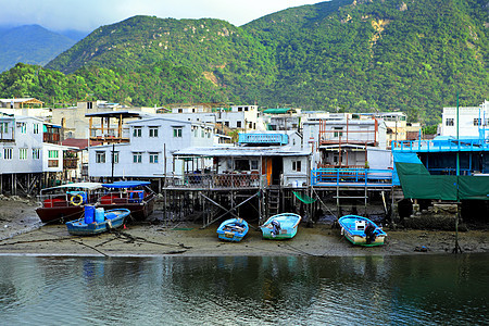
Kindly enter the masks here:
M 371 220 L 358 216 L 346 215 L 338 220 L 341 225 L 341 235 L 353 244 L 373 247 L 384 244 L 387 234 Z

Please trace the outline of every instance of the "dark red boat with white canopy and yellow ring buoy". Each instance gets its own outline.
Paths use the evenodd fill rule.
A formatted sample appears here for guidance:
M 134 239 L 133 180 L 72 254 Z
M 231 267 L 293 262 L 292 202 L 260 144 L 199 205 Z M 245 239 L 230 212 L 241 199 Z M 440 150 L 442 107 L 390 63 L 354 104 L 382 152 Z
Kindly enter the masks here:
M 97 202 L 102 184 L 76 183 L 40 191 L 39 201 L 41 206 L 36 210 L 42 223 L 64 223 L 83 216 L 86 204 Z

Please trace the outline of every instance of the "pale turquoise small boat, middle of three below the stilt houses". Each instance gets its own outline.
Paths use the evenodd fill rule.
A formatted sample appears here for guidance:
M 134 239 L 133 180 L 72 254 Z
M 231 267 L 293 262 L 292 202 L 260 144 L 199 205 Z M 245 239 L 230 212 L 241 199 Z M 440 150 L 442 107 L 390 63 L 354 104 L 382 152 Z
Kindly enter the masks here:
M 281 213 L 269 217 L 260 228 L 264 239 L 290 239 L 297 234 L 301 216 Z

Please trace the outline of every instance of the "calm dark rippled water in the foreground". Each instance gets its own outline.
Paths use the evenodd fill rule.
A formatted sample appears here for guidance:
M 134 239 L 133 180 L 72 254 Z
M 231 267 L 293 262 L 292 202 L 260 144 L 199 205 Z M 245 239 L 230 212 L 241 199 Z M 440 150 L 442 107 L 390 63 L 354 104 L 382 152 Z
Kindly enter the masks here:
M 488 254 L 0 256 L 1 325 L 480 325 L 488 293 Z

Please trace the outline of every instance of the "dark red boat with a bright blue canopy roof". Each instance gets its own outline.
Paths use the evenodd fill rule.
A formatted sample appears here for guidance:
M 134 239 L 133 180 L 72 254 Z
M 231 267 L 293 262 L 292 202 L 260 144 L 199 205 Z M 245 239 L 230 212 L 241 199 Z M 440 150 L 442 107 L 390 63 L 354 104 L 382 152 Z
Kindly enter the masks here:
M 145 220 L 153 213 L 155 193 L 149 187 L 149 181 L 115 181 L 102 184 L 109 192 L 100 198 L 98 208 L 104 210 L 127 209 L 135 220 Z

